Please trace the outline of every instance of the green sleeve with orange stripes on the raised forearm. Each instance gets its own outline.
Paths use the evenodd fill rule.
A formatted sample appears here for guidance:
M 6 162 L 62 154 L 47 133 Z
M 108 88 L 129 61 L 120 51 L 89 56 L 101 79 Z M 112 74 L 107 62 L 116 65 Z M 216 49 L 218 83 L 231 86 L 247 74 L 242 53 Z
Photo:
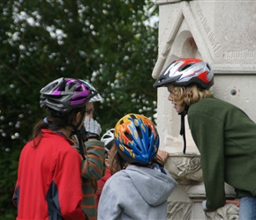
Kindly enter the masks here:
M 104 143 L 101 141 L 89 141 L 86 145 L 86 159 L 82 161 L 81 176 L 90 180 L 102 178 L 104 162 Z

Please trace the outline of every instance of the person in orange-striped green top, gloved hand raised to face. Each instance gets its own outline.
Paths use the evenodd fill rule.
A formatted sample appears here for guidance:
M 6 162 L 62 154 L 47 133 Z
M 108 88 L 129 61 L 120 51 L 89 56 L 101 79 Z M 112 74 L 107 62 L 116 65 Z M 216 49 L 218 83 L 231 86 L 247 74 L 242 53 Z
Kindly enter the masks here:
M 82 157 L 81 177 L 82 177 L 82 210 L 87 213 L 89 220 L 97 219 L 97 204 L 95 192 L 97 190 L 97 180 L 102 178 L 103 159 L 104 159 L 104 143 L 100 141 L 102 127 L 98 121 L 94 120 L 94 102 L 102 100 L 100 93 L 94 86 L 85 80 L 81 80 L 84 84 L 97 93 L 86 105 L 86 117 L 81 128 L 81 137 L 84 146 L 84 157 Z M 76 145 L 73 146 L 77 148 Z M 78 149 L 79 150 L 79 149 Z

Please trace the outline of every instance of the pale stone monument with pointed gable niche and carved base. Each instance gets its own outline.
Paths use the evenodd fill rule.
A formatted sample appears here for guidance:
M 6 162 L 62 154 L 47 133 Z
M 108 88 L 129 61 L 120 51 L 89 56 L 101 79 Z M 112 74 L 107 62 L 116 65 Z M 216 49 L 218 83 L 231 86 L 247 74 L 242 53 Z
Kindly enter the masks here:
M 152 77 L 181 57 L 200 58 L 215 72 L 215 97 L 242 108 L 256 121 L 256 2 L 158 0 L 159 48 Z M 168 101 L 166 88 L 157 90 L 157 128 L 161 149 L 169 152 L 166 167 L 179 185 L 169 197 L 168 219 L 238 219 L 238 208 L 225 205 L 204 213 L 206 199 L 200 153 L 185 121 L 187 150 L 179 136 L 180 117 Z M 227 198 L 234 189 L 226 186 Z

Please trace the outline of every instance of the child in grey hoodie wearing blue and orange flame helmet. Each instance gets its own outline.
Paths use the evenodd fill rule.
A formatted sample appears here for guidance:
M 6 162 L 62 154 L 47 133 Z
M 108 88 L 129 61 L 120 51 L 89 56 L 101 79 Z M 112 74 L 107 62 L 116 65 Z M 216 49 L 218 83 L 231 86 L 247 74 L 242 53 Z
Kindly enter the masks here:
M 98 219 L 167 219 L 167 199 L 177 182 L 157 155 L 159 136 L 154 123 L 127 114 L 115 127 L 111 151 L 113 175 L 102 190 Z

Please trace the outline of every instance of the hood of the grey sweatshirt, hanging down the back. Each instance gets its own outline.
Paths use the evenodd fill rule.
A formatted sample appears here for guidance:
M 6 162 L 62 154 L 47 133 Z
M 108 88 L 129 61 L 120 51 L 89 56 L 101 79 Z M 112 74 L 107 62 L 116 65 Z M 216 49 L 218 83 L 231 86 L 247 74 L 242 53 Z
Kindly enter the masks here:
M 162 173 L 148 167 L 129 165 L 124 170 L 132 180 L 134 187 L 137 188 L 143 199 L 152 206 L 158 206 L 166 202 L 169 194 L 177 186 L 167 170 Z

